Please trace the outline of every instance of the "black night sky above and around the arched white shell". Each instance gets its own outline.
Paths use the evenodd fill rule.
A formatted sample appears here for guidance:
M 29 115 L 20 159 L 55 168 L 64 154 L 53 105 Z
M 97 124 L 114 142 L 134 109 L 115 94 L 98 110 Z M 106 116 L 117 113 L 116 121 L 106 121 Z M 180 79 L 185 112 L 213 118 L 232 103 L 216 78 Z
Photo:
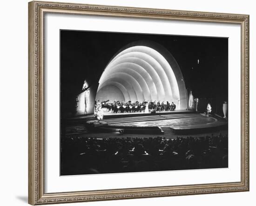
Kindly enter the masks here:
M 97 83 L 113 56 L 140 40 L 154 41 L 174 56 L 195 97 L 228 99 L 227 38 L 62 30 L 61 100 L 80 93 L 85 79 Z

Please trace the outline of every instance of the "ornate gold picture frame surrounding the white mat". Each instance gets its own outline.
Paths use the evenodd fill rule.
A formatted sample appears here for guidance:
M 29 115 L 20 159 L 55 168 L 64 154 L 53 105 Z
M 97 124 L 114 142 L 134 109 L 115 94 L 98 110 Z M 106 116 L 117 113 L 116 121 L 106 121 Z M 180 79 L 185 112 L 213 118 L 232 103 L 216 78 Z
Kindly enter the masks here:
M 31 205 L 249 191 L 249 15 L 32 1 L 29 8 L 28 202 Z M 45 14 L 225 23 L 241 27 L 241 180 L 107 190 L 45 192 Z M 58 61 L 56 59 L 56 61 Z M 58 81 L 58 80 L 56 80 Z M 237 116 L 238 118 L 239 115 Z M 239 135 L 239 134 L 237 134 Z M 239 151 L 240 152 L 240 151 Z M 240 159 L 239 159 L 240 161 Z

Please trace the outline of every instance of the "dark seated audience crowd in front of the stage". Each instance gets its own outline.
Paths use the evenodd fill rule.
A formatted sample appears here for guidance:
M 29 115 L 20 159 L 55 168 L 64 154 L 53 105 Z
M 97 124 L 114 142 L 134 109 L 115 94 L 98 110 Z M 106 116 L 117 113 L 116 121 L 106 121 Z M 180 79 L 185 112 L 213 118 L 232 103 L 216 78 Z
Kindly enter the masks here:
M 61 143 L 61 175 L 228 167 L 228 137 L 221 133 L 175 139 L 70 136 Z

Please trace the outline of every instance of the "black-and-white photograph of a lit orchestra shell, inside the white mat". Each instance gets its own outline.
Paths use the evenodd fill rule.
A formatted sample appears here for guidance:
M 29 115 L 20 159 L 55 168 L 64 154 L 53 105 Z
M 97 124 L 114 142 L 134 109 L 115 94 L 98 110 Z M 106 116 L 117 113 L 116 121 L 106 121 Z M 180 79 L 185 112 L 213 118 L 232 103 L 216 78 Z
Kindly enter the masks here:
M 61 175 L 227 168 L 228 38 L 60 31 Z

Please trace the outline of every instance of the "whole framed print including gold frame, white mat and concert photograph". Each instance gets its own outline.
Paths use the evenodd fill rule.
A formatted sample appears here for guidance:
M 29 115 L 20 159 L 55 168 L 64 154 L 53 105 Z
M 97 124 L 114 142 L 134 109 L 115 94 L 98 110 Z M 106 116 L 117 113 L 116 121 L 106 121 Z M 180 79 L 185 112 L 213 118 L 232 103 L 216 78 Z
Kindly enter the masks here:
M 249 191 L 249 15 L 28 7 L 29 204 Z

